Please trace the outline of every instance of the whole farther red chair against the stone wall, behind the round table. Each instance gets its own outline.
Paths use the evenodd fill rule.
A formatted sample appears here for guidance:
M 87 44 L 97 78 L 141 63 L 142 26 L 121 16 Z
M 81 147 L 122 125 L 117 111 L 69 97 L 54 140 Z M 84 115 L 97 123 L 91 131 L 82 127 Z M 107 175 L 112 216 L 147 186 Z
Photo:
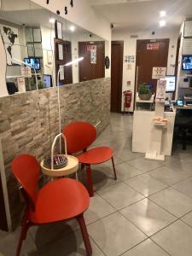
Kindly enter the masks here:
M 90 165 L 102 164 L 111 159 L 114 179 L 117 179 L 113 161 L 113 150 L 111 148 L 98 147 L 87 150 L 90 144 L 96 140 L 96 128 L 93 125 L 85 122 L 70 123 L 64 127 L 62 132 L 67 139 L 67 151 L 69 154 L 83 151 L 83 154 L 79 154 L 78 159 L 79 163 L 86 166 L 88 191 L 90 196 L 93 196 L 93 181 Z

